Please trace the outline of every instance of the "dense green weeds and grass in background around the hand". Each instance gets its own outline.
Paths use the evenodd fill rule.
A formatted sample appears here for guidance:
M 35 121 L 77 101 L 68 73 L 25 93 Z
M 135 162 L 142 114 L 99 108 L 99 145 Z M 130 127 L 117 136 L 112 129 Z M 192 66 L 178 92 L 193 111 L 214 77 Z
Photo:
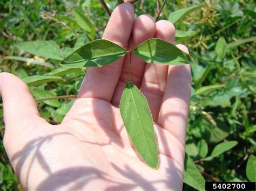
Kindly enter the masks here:
M 106 2 L 111 10 L 117 6 L 117 1 Z M 161 4 L 163 1 L 159 2 Z M 192 5 L 203 5 L 203 8 L 174 24 L 176 30 L 196 33 L 190 38 L 176 39 L 176 43 L 188 46 L 195 60 L 191 65 L 193 88 L 186 152 L 206 181 L 252 181 L 250 172 L 253 172 L 251 169 L 255 172 L 255 157 L 250 155 L 255 155 L 256 150 L 255 2 L 170 0 L 167 1 L 160 19 L 168 19 L 174 10 Z M 134 7 L 136 16 L 146 13 L 155 17 L 156 1 L 140 1 Z M 91 29 L 96 28 L 95 33 L 88 32 L 91 29 L 84 29 L 84 33 L 73 17 L 73 8 L 84 13 L 92 25 Z M 55 11 L 57 12 L 53 14 Z M 11 72 L 22 79 L 50 73 L 60 67 L 59 61 L 39 58 L 21 51 L 16 45 L 23 41 L 53 40 L 60 47 L 73 47 L 78 34 L 86 34 L 84 41 L 100 38 L 108 19 L 102 6 L 94 0 L 1 1 L 0 72 Z M 43 59 L 43 62 L 52 63 L 53 68 L 47 67 L 47 64 L 39 66 L 18 61 L 13 56 Z M 86 69 L 74 69 L 72 73 L 62 76 L 69 80 L 39 84 L 36 88 L 31 87 L 31 91 L 36 98 L 76 95 L 85 72 Z M 50 93 L 42 93 L 42 90 Z M 57 124 L 62 121 L 72 102 L 73 98 L 66 98 L 37 103 L 42 117 Z M 2 118 L 2 108 L 0 115 Z M 0 125 L 0 190 L 21 190 L 4 152 L 3 121 Z M 227 142 L 231 140 L 235 140 L 237 144 Z M 215 147 L 220 143 L 222 145 Z M 227 147 L 230 143 L 232 145 Z M 219 152 L 223 146 L 228 149 Z M 254 166 L 246 168 L 249 157 L 251 162 L 248 165 Z M 192 188 L 184 185 L 184 189 Z

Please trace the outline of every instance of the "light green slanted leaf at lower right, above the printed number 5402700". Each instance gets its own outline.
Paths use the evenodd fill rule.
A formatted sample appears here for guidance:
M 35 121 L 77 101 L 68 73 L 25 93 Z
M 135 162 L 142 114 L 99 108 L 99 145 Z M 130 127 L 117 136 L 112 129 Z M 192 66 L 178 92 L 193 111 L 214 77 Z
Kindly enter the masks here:
M 210 157 L 207 157 L 204 160 L 212 160 L 214 157 L 217 157 L 218 155 L 230 150 L 237 144 L 238 144 L 238 142 L 236 142 L 235 140 L 220 143 L 213 148 L 213 151 L 212 151 Z

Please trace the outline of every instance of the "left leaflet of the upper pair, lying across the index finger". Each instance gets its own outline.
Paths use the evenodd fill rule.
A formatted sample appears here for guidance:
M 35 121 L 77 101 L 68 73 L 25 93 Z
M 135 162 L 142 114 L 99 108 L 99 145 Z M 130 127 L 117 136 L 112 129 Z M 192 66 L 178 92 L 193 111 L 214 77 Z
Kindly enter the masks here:
M 105 66 L 113 63 L 128 51 L 109 40 L 97 39 L 76 49 L 62 60 L 61 65 L 69 68 Z

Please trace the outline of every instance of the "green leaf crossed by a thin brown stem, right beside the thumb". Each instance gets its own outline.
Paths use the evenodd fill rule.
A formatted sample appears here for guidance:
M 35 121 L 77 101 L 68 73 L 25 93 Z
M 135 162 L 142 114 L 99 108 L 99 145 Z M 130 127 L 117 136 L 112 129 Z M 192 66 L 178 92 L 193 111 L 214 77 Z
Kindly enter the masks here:
M 43 89 L 32 89 L 32 95 L 38 98 L 48 98 L 48 97 L 54 97 L 55 95 L 52 94 L 50 91 L 46 91 Z M 51 105 L 52 107 L 59 107 L 59 101 L 58 100 L 44 100 L 45 104 Z

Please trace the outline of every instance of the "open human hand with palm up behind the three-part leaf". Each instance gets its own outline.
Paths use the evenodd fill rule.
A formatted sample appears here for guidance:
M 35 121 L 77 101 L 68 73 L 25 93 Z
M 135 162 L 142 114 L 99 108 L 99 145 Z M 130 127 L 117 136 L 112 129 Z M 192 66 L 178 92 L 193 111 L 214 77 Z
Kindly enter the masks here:
M 149 38 L 174 43 L 174 26 L 148 15 L 134 19 L 129 3 L 114 9 L 104 39 L 136 47 Z M 184 52 L 183 45 L 177 45 Z M 60 125 L 39 117 L 29 88 L 0 74 L 4 147 L 25 190 L 181 190 L 190 103 L 190 65 L 151 65 L 132 55 L 131 79 L 146 96 L 159 149 L 152 169 L 132 146 L 119 112 L 129 55 L 90 68 L 73 107 Z

